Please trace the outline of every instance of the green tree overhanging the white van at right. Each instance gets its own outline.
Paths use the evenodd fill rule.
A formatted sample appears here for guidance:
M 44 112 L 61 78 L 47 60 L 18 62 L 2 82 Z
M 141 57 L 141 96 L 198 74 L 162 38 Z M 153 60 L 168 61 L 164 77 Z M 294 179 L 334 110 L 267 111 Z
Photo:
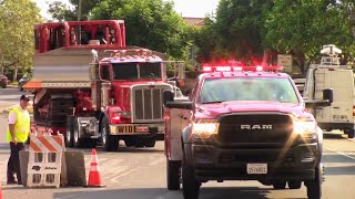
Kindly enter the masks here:
M 266 43 L 295 57 L 301 71 L 320 56 L 321 46 L 336 44 L 343 64 L 354 55 L 352 0 L 276 0 L 266 20 Z

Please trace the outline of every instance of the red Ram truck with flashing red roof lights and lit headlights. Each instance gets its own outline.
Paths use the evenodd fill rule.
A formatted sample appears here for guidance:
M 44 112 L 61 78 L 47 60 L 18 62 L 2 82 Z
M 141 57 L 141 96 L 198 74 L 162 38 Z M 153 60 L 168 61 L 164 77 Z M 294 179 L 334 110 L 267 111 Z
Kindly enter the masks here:
M 168 189 L 199 198 L 202 182 L 258 180 L 321 197 L 323 132 L 277 66 L 204 66 L 189 101 L 164 92 Z M 327 94 L 328 92 L 328 94 Z M 325 91 L 325 100 L 332 92 Z

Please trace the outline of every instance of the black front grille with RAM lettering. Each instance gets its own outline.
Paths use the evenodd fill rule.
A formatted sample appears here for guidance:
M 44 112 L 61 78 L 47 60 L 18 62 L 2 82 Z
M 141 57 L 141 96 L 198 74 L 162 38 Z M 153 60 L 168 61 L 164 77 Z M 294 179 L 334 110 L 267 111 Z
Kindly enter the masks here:
M 241 125 L 244 126 L 244 129 L 241 129 Z M 270 128 L 270 125 L 272 128 Z M 248 127 L 251 129 L 247 129 Z M 250 115 L 242 114 L 222 116 L 220 118 L 220 132 L 217 138 L 220 142 L 229 144 L 277 145 L 285 144 L 291 135 L 292 119 L 288 115 L 253 113 Z

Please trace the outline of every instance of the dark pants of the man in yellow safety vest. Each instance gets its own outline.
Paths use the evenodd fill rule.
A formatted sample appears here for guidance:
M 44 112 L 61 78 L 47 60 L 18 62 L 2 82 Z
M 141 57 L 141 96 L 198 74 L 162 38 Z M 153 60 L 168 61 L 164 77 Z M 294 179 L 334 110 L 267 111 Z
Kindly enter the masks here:
M 11 155 L 8 161 L 8 182 L 14 181 L 16 174 L 18 181 L 21 182 L 21 170 L 20 170 L 20 150 L 24 150 L 24 144 L 18 143 L 10 143 L 10 150 Z

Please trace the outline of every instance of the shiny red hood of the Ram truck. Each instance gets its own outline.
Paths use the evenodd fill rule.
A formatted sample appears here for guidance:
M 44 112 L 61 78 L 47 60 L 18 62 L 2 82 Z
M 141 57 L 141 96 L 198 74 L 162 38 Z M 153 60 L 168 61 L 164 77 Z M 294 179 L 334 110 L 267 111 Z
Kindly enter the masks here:
M 215 118 L 222 114 L 251 113 L 251 112 L 276 112 L 292 114 L 296 117 L 311 117 L 301 104 L 278 103 L 278 102 L 223 102 L 214 104 L 200 104 L 196 106 L 196 118 Z

